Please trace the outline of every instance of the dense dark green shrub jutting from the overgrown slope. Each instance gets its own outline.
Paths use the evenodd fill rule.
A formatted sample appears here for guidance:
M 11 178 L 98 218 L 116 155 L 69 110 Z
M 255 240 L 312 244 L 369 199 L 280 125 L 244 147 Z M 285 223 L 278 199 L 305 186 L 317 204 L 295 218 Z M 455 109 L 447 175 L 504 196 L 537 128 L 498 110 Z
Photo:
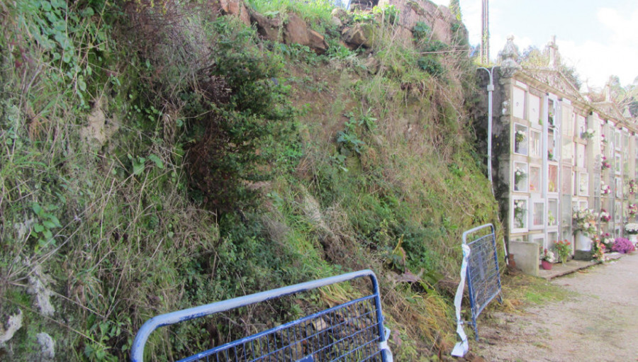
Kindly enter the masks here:
M 194 197 L 210 208 L 242 207 L 264 181 L 294 133 L 294 111 L 279 83 L 281 59 L 257 47 L 251 28 L 219 18 L 211 66 L 182 95 L 191 118 L 187 168 Z M 286 144 L 286 145 L 284 145 Z

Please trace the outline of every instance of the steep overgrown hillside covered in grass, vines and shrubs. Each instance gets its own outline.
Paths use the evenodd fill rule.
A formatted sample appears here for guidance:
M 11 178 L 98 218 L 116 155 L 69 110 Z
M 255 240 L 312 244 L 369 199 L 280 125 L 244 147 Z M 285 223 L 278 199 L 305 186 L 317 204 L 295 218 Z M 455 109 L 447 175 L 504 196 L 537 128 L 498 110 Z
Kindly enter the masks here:
M 380 278 L 397 361 L 454 344 L 461 233 L 500 230 L 461 24 L 451 44 L 425 22 L 405 40 L 394 6 L 335 21 L 328 1 L 247 1 L 253 16 L 303 19 L 323 51 L 222 8 L 0 3 L 0 315 L 14 333 L 0 359 L 47 360 L 55 341 L 56 359 L 124 360 L 154 315 L 360 268 Z M 366 45 L 344 43 L 346 26 Z M 147 356 L 359 288 L 166 329 Z

